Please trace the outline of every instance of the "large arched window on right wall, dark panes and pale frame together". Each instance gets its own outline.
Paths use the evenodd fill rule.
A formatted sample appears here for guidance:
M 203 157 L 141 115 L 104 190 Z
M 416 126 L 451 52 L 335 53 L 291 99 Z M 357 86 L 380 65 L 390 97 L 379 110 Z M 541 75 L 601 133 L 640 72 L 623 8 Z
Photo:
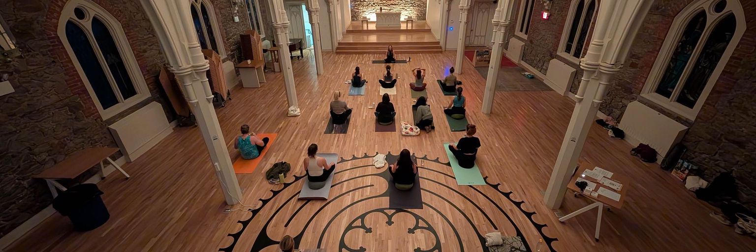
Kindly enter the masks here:
M 737 0 L 691 3 L 675 17 L 643 96 L 694 120 L 743 33 Z

